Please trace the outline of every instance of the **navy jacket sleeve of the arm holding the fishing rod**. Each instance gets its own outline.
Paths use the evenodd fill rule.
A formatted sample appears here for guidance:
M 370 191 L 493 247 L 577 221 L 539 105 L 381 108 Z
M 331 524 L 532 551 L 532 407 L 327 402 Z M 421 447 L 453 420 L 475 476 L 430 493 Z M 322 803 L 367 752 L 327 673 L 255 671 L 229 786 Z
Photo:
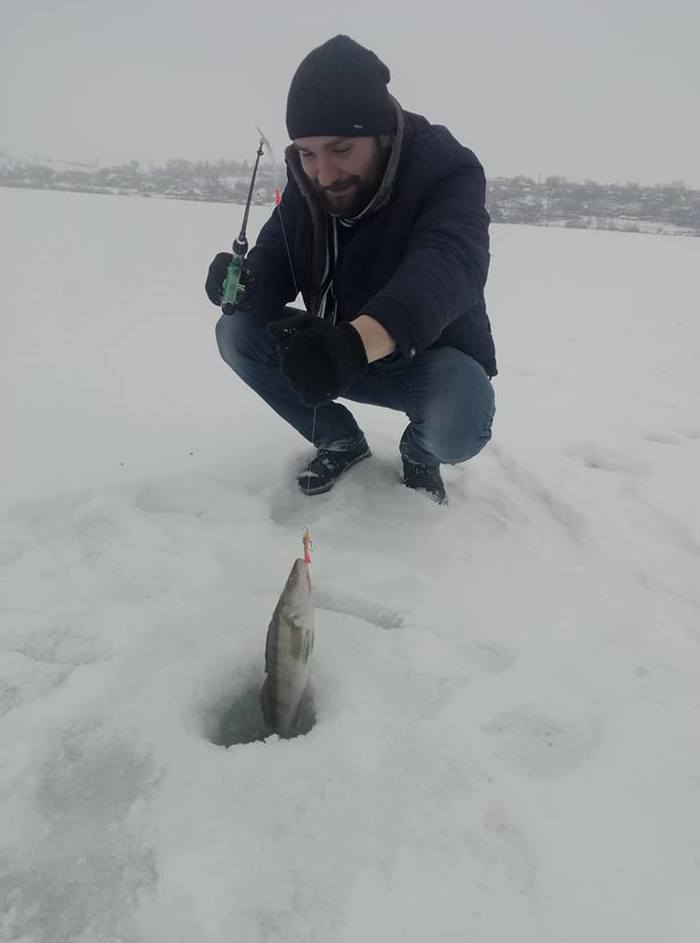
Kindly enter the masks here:
M 298 294 L 290 258 L 296 215 L 289 189 L 288 184 L 279 206 L 272 211 L 248 253 L 253 283 L 240 305 L 243 309 L 255 309 L 261 314 L 277 311 L 294 301 Z

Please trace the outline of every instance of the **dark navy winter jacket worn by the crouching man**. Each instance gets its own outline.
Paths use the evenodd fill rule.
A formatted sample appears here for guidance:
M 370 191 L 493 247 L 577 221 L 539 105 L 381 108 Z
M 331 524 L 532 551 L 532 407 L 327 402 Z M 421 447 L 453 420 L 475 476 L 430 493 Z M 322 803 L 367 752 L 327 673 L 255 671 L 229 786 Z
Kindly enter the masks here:
M 398 105 L 397 114 L 377 197 L 350 228 L 338 227 L 338 318 L 375 318 L 406 358 L 428 347 L 456 347 L 494 376 L 484 303 L 489 217 L 483 168 L 446 128 Z M 255 286 L 249 306 L 268 316 L 293 301 L 297 288 L 307 309 L 318 313 L 328 239 L 329 217 L 292 148 L 287 170 L 282 202 L 249 255 Z

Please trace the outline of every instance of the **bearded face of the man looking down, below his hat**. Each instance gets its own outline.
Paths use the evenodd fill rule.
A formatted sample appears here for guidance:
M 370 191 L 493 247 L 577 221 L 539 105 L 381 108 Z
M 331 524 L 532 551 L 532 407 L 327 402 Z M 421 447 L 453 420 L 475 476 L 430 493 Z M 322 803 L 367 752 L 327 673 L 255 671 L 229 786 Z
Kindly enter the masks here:
M 381 182 L 390 138 L 297 138 L 301 167 L 321 205 L 333 216 L 357 216 Z

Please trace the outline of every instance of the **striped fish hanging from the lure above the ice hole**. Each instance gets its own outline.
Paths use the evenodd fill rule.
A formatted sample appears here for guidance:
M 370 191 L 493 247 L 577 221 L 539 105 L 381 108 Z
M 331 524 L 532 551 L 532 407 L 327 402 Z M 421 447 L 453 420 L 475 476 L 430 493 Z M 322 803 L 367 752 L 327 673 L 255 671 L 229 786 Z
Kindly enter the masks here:
M 314 605 L 309 565 L 294 561 L 265 639 L 265 682 L 260 706 L 269 730 L 292 737 L 309 683 L 314 647 Z

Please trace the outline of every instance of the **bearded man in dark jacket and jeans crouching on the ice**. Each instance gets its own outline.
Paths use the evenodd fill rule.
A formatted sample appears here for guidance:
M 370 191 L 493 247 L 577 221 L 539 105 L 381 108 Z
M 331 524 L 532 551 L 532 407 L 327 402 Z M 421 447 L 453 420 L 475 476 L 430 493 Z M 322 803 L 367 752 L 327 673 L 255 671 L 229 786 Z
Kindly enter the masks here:
M 440 465 L 481 451 L 494 415 L 485 179 L 446 128 L 400 107 L 389 79 L 348 36 L 303 60 L 287 186 L 216 335 L 226 363 L 318 449 L 297 479 L 305 494 L 370 455 L 342 396 L 407 415 L 403 481 L 444 503 Z M 209 269 L 217 305 L 230 259 Z M 306 312 L 286 307 L 299 293 Z

